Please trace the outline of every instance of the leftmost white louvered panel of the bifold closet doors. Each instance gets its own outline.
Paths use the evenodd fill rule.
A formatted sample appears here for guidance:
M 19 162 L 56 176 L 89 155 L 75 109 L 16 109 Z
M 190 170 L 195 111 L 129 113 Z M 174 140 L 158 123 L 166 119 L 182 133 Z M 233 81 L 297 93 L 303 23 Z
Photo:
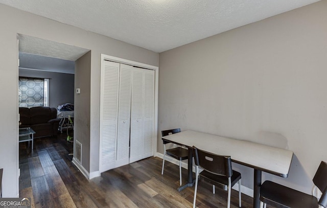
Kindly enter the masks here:
M 100 172 L 115 166 L 120 64 L 104 61 L 101 71 Z

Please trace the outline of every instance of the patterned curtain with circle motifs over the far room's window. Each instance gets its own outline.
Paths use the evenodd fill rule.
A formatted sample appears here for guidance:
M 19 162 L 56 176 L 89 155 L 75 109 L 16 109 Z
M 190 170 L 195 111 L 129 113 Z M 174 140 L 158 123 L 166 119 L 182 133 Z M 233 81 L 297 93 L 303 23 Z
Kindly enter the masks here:
M 19 107 L 43 106 L 44 79 L 19 77 Z

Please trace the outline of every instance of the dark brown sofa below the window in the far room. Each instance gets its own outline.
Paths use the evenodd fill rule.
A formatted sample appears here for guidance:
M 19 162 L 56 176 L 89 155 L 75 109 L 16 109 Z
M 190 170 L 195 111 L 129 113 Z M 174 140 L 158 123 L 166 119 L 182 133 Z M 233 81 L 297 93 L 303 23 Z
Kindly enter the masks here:
M 19 128 L 31 127 L 35 137 L 54 136 L 58 133 L 61 119 L 57 119 L 57 109 L 50 107 L 19 107 Z

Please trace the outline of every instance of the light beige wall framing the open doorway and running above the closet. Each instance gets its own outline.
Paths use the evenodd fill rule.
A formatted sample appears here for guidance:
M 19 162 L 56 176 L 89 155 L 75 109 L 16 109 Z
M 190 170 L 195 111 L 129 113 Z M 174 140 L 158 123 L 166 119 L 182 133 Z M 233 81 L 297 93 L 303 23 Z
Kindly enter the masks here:
M 89 172 L 99 170 L 100 54 L 158 66 L 159 55 L 134 45 L 60 24 L 0 4 L 0 167 L 4 168 L 3 197 L 18 195 L 18 47 L 17 33 L 91 50 Z M 137 37 L 135 37 L 137 38 Z M 78 109 L 82 110 L 83 109 Z M 76 128 L 80 128 L 77 127 Z M 88 138 L 85 138 L 86 140 Z

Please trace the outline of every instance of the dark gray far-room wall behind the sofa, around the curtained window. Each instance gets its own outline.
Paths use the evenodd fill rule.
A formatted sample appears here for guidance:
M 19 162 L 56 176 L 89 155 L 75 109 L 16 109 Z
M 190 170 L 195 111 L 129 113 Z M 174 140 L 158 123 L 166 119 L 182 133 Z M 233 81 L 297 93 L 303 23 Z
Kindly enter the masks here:
M 21 77 L 49 78 L 49 106 L 57 108 L 64 103 L 74 104 L 74 75 L 19 69 Z

